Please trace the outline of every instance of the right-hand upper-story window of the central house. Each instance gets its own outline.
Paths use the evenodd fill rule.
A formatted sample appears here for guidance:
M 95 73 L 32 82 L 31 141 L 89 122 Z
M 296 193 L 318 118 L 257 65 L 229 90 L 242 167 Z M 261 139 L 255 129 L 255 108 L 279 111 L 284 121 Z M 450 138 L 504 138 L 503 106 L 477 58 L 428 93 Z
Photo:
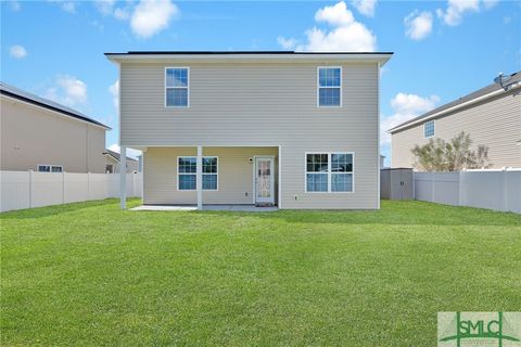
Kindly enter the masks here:
M 342 67 L 318 67 L 318 106 L 342 106 Z

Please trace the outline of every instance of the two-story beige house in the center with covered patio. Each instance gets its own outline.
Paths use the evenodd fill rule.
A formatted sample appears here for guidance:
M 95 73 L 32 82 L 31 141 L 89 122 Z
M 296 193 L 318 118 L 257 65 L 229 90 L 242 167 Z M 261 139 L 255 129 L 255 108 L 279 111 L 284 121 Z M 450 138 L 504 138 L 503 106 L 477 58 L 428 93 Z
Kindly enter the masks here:
M 119 65 L 122 155 L 143 152 L 143 203 L 379 208 L 391 55 L 106 53 Z

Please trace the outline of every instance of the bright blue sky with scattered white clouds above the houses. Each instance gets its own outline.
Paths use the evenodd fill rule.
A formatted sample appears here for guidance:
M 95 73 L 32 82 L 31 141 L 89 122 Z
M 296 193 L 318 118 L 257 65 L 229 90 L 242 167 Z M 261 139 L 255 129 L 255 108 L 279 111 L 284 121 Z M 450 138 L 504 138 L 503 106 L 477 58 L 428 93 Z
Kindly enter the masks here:
M 521 2 L 1 3 L 1 80 L 107 124 L 107 146 L 117 70 L 104 52 L 282 49 L 395 52 L 381 75 L 383 130 L 520 70 Z

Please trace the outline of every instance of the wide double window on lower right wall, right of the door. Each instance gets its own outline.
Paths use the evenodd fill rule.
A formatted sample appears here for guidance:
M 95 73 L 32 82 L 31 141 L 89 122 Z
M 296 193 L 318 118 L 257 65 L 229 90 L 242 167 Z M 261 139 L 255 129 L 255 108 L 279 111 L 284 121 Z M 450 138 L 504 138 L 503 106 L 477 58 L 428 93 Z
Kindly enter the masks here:
M 306 154 L 306 192 L 353 192 L 353 153 Z

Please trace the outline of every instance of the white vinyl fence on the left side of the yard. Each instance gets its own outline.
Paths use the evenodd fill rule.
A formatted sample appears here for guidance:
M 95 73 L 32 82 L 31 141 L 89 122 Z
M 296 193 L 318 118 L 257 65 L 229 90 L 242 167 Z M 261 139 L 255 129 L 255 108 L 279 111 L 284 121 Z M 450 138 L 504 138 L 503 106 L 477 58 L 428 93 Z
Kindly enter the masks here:
M 142 174 L 127 174 L 127 196 L 141 196 Z M 0 171 L 0 211 L 119 196 L 119 174 Z

